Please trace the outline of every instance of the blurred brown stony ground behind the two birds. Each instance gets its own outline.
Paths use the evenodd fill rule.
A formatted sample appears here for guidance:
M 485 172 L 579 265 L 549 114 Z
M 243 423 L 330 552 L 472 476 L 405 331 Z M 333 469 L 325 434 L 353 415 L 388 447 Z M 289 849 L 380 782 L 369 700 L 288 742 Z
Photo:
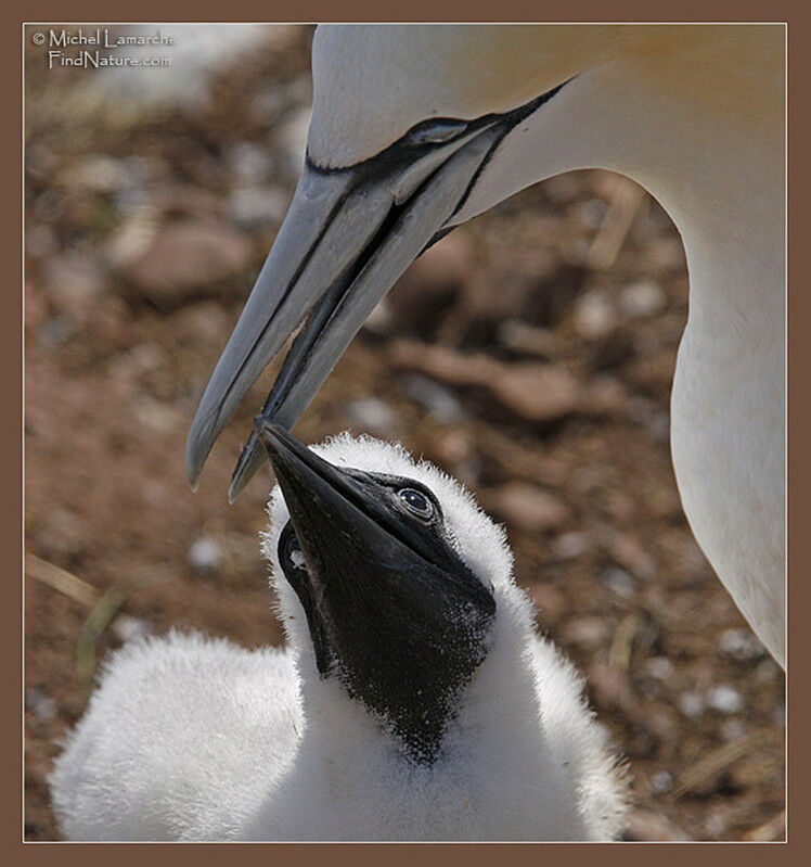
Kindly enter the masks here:
M 283 640 L 259 556 L 270 472 L 226 499 L 278 365 L 196 494 L 183 449 L 297 180 L 311 89 L 311 27 L 162 26 L 175 46 L 102 53 L 168 65 L 87 69 L 62 65 L 77 47 L 49 68 L 48 30 L 25 40 L 28 840 L 59 838 L 47 776 L 104 654 L 172 626 Z M 561 176 L 419 259 L 296 433 L 398 439 L 506 524 L 539 627 L 629 762 L 627 839 L 783 839 L 783 673 L 670 463 L 686 314 L 662 209 L 608 173 Z

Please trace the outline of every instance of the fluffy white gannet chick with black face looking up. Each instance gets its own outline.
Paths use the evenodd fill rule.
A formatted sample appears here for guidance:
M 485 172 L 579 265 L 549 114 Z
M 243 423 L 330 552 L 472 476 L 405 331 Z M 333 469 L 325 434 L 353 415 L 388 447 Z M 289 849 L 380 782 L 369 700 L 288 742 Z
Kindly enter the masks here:
M 621 769 L 504 531 L 399 446 L 258 426 L 287 647 L 119 651 L 51 777 L 65 837 L 616 837 Z

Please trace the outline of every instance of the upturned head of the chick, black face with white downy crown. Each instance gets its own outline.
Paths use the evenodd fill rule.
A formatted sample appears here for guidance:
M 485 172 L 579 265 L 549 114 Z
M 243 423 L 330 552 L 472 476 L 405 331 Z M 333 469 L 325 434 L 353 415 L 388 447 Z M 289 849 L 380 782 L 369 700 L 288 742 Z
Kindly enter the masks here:
M 400 446 L 344 434 L 308 449 L 267 422 L 260 435 L 280 483 L 263 548 L 302 670 L 430 764 L 492 640 L 504 532 Z

